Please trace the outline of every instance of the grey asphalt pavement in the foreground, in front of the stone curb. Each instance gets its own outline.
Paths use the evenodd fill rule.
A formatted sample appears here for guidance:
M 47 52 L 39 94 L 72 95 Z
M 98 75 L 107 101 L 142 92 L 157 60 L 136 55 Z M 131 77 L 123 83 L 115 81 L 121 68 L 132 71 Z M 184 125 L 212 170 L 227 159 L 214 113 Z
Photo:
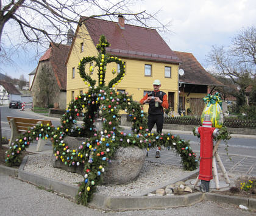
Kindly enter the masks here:
M 169 209 L 105 212 L 78 205 L 55 193 L 38 189 L 38 187 L 1 173 L 0 182 L 0 215 L 256 215 L 255 212 L 242 211 L 230 204 L 219 204 L 211 201 L 202 201 L 201 203 L 193 204 L 192 206 Z

